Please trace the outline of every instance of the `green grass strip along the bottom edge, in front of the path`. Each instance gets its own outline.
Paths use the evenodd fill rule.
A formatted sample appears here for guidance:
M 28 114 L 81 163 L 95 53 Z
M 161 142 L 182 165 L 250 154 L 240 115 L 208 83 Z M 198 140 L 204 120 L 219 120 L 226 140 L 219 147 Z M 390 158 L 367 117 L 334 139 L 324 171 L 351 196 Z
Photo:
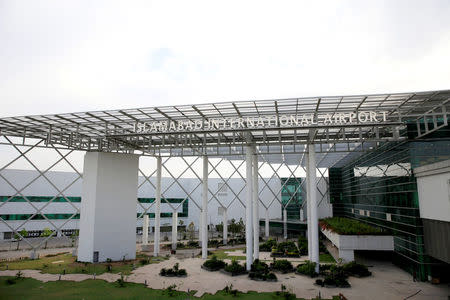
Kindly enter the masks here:
M 145 287 L 143 284 L 127 282 L 124 287 L 120 287 L 117 283 L 108 283 L 103 280 L 84 280 L 81 282 L 74 281 L 50 281 L 41 282 L 32 278 L 24 278 L 17 280 L 14 284 L 8 284 L 6 281 L 11 277 L 0 277 L 0 299 L 29 299 L 41 300 L 45 296 L 46 300 L 53 299 L 202 299 L 202 300 L 277 300 L 284 299 L 276 293 L 257 293 L 237 292 L 237 295 L 231 295 L 225 291 L 219 291 L 215 295 L 205 294 L 200 298 L 193 296 L 195 291 L 191 293 L 179 292 L 173 289 L 154 290 Z M 339 297 L 333 297 L 339 299 Z

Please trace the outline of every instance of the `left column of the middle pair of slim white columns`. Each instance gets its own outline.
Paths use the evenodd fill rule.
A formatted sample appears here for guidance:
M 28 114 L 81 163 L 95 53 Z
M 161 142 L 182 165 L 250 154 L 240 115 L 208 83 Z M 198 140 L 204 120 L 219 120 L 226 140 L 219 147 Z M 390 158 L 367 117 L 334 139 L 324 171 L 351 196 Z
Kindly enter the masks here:
M 245 245 L 246 245 L 246 262 L 247 262 L 247 271 L 250 271 L 251 265 L 253 263 L 253 192 L 252 192 L 252 156 L 253 156 L 253 148 L 251 146 L 247 146 L 245 154 L 245 165 L 246 165 L 246 180 L 245 180 L 245 188 L 246 188 L 246 202 L 245 202 Z

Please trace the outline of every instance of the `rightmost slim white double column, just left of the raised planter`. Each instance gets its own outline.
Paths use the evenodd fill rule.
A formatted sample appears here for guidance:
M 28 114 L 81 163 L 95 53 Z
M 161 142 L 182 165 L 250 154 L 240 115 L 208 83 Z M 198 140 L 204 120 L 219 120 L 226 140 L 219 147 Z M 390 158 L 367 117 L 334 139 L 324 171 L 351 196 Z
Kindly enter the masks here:
M 317 187 L 316 187 L 316 153 L 314 145 L 308 145 L 308 195 L 311 203 L 311 261 L 316 263 L 316 272 L 319 272 L 319 220 L 317 215 Z

